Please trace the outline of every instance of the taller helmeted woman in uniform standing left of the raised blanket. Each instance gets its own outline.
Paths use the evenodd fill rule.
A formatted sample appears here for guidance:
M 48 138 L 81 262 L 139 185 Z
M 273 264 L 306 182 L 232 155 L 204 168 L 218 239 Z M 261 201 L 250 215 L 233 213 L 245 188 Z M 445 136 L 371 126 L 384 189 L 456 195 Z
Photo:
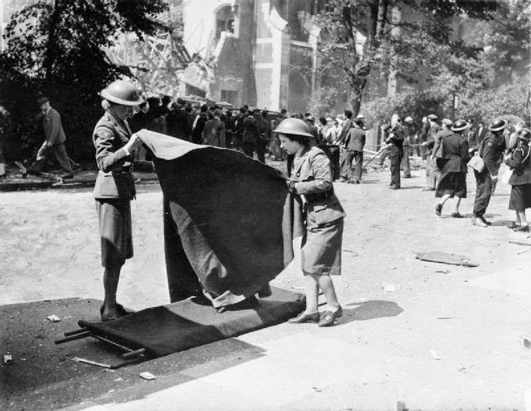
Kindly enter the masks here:
M 102 321 L 127 314 L 116 301 L 121 267 L 133 256 L 130 201 L 135 197 L 133 164 L 153 169 L 152 162 L 135 161 L 134 150 L 142 142 L 127 123 L 134 107 L 143 102 L 134 84 L 117 80 L 102 90 L 104 115 L 96 124 L 93 142 L 99 169 L 94 186 L 104 266 Z

